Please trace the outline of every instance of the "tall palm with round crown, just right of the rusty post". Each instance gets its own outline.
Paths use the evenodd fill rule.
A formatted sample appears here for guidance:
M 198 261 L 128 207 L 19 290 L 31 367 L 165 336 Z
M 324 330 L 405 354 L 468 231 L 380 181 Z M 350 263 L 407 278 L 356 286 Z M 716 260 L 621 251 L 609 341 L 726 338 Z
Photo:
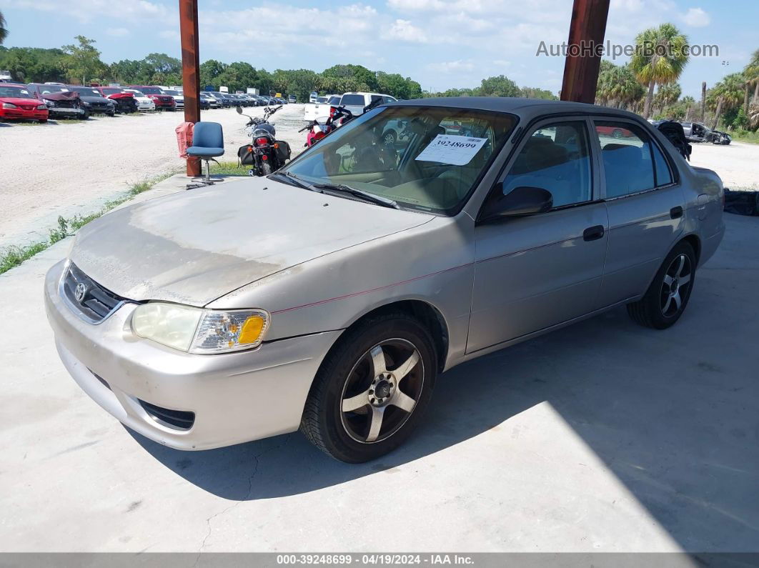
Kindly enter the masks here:
M 644 118 L 651 114 L 653 88 L 679 79 L 689 55 L 685 52 L 688 37 L 672 24 L 662 24 L 643 30 L 635 38 L 635 53 L 630 66 L 638 80 L 648 86 Z

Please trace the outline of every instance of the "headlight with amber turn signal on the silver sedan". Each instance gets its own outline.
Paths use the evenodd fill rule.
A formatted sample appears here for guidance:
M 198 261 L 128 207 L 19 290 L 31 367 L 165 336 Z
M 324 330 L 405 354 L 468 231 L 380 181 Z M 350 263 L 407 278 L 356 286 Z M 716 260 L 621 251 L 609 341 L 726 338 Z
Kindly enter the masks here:
M 162 302 L 142 304 L 132 314 L 140 337 L 187 353 L 227 353 L 260 345 L 269 325 L 263 309 L 228 312 Z

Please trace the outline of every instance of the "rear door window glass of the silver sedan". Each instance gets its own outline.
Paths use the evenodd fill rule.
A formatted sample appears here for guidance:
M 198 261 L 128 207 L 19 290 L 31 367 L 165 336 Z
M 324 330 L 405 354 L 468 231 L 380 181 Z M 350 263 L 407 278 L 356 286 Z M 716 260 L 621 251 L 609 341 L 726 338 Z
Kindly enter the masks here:
M 657 187 L 654 145 L 647 133 L 635 124 L 595 121 L 595 125 L 606 175 L 606 197 L 622 197 Z

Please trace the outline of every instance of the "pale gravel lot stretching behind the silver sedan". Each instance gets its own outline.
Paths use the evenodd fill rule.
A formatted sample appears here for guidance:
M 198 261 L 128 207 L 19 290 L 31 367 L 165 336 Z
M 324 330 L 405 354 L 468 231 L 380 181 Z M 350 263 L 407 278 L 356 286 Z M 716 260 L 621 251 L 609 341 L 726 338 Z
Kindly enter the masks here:
M 298 129 L 304 105 L 285 105 L 273 118 L 280 139 L 294 153 L 303 149 Z M 263 108 L 247 108 L 262 115 Z M 0 248 L 46 238 L 58 215 L 98 210 L 130 184 L 184 168 L 175 127 L 181 112 L 91 118 L 87 123 L 23 125 L 0 123 Z M 226 160 L 237 160 L 247 141 L 245 118 L 231 108 L 203 111 L 203 119 L 224 128 Z M 759 190 L 759 145 L 694 144 L 693 165 L 716 171 L 726 187 Z

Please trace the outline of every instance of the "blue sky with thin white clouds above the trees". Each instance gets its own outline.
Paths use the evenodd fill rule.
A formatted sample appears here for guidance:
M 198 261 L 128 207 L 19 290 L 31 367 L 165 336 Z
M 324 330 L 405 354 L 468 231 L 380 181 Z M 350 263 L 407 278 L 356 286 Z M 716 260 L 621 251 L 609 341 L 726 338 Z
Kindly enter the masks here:
M 108 63 L 151 52 L 180 57 L 177 6 L 177 0 L 0 0 L 10 32 L 5 46 L 60 47 L 83 35 L 96 40 Z M 199 0 L 198 6 L 200 61 L 247 61 L 269 71 L 361 64 L 433 91 L 505 74 L 519 86 L 557 93 L 564 58 L 537 54 L 540 42 L 566 41 L 572 13 L 572 0 Z M 682 94 L 696 99 L 701 81 L 711 85 L 741 71 L 759 49 L 756 0 L 611 0 L 606 40 L 624 46 L 664 22 L 679 27 L 691 46 L 719 48 L 718 56 L 691 57 L 682 74 Z

